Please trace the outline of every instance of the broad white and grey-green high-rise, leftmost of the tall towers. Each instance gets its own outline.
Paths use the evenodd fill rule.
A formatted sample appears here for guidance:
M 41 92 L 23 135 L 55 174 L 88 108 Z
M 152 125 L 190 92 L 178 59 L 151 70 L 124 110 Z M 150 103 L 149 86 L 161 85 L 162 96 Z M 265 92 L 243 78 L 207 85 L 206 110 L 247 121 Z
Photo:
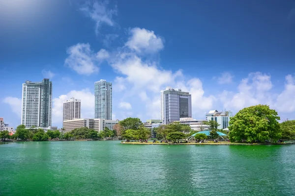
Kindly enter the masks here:
M 52 123 L 52 82 L 26 81 L 22 94 L 22 124 L 26 127 L 49 127 Z

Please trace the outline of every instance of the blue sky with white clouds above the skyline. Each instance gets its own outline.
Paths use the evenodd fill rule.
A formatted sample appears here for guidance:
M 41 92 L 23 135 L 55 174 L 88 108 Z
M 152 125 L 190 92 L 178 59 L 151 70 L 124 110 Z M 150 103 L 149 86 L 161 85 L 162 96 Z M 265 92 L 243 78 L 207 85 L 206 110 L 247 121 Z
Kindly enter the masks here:
M 113 119 L 160 118 L 160 90 L 192 115 L 267 104 L 295 119 L 295 0 L 0 0 L 0 117 L 21 123 L 22 83 L 53 82 L 94 118 L 94 82 L 113 82 Z

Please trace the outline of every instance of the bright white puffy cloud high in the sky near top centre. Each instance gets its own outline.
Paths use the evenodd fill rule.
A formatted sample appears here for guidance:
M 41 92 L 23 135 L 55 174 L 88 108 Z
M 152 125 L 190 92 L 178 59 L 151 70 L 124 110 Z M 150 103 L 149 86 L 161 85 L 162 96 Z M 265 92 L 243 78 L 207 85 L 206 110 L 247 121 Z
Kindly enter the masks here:
M 155 53 L 164 48 L 163 40 L 154 31 L 145 28 L 132 28 L 125 46 L 138 53 Z

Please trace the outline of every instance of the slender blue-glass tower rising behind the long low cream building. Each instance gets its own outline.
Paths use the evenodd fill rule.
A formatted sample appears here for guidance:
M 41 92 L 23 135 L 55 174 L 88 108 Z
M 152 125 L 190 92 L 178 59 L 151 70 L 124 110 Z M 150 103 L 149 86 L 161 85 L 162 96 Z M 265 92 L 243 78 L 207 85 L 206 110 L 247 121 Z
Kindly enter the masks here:
M 112 120 L 112 83 L 104 79 L 94 82 L 95 119 Z

